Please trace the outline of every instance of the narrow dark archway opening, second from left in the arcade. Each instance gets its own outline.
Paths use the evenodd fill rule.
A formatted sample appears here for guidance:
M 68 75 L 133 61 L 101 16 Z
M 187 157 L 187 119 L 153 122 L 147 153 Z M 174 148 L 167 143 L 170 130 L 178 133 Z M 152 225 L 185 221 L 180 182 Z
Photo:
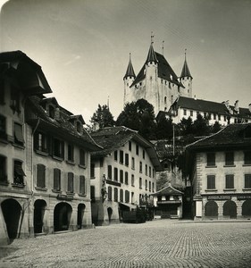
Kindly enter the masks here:
M 44 226 L 44 216 L 46 211 L 46 201 L 38 199 L 34 203 L 34 232 L 42 233 Z

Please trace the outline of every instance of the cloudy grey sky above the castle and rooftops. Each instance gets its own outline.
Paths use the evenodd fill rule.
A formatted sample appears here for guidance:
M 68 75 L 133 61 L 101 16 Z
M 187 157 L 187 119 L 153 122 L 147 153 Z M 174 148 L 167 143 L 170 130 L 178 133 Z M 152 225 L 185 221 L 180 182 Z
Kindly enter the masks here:
M 197 98 L 251 103 L 251 0 L 0 0 L 0 6 L 0 52 L 27 54 L 53 90 L 46 96 L 87 123 L 108 102 L 114 119 L 121 113 L 129 54 L 137 74 L 152 32 L 155 51 L 178 76 L 187 49 Z

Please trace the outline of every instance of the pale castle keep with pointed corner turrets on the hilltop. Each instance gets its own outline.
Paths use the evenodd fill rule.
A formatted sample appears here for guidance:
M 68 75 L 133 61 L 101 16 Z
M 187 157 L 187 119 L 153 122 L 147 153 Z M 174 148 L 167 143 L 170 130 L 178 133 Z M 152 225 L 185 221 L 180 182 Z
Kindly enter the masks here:
M 168 112 L 178 96 L 193 96 L 193 78 L 186 57 L 178 78 L 163 54 L 155 52 L 153 42 L 149 47 L 146 62 L 138 75 L 135 75 L 130 59 L 123 80 L 124 105 L 144 98 L 154 106 L 155 115 L 160 111 Z

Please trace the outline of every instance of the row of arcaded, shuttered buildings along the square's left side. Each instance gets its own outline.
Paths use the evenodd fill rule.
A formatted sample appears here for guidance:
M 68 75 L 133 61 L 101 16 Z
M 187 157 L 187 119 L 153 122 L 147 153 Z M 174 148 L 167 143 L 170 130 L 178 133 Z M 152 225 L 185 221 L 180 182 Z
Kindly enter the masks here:
M 0 244 L 92 226 L 90 152 L 100 149 L 26 54 L 0 54 Z

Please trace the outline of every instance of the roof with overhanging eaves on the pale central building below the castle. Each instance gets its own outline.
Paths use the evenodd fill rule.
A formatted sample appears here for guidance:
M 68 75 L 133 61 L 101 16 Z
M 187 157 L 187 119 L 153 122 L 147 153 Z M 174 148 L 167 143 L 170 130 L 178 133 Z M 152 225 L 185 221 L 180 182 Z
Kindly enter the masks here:
M 99 144 L 103 149 L 93 152 L 93 157 L 105 157 L 118 150 L 130 140 L 135 140 L 141 147 L 146 149 L 146 153 L 149 155 L 155 170 L 162 171 L 161 163 L 155 153 L 153 144 L 141 137 L 136 130 L 130 130 L 126 127 L 107 127 L 90 133 L 91 137 Z

